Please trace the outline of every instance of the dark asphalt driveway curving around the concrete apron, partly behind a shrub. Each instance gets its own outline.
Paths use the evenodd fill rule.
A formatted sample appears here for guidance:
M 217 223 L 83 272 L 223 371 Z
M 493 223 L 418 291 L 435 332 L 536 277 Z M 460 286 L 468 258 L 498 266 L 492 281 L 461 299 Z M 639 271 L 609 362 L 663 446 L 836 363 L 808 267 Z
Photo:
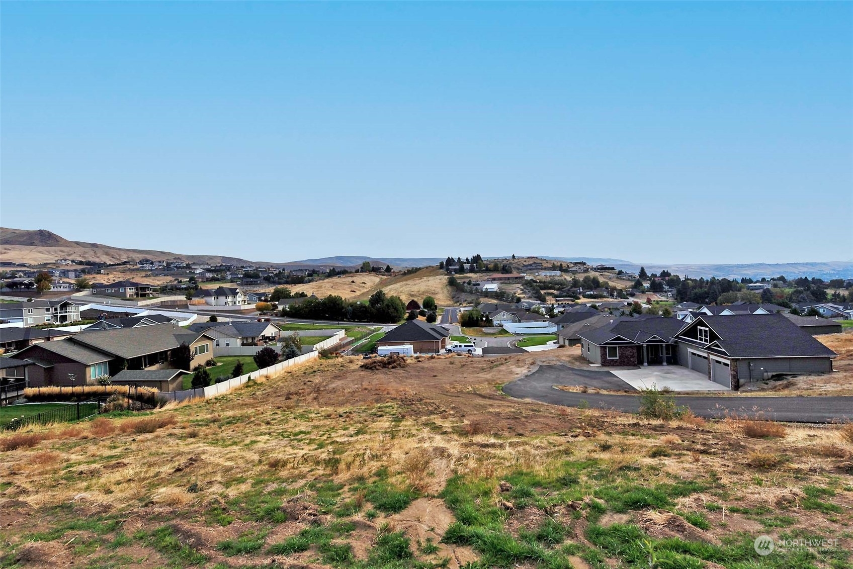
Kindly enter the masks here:
M 589 374 L 595 374 L 590 376 Z M 626 413 L 640 410 L 639 395 L 605 395 L 599 393 L 575 393 L 554 389 L 555 385 L 590 385 L 599 379 L 597 374 L 563 365 L 543 365 L 532 374 L 503 386 L 510 397 L 532 399 L 547 404 L 577 407 L 586 402 L 597 409 L 614 409 Z M 615 377 L 615 376 L 613 376 Z M 618 379 L 618 378 L 617 378 Z M 580 383 L 582 382 L 583 383 Z M 624 382 L 620 380 L 624 389 Z M 676 403 L 687 406 L 693 413 L 705 418 L 720 418 L 727 414 L 755 416 L 759 413 L 774 421 L 803 423 L 830 423 L 853 420 L 853 397 L 750 397 L 678 395 Z

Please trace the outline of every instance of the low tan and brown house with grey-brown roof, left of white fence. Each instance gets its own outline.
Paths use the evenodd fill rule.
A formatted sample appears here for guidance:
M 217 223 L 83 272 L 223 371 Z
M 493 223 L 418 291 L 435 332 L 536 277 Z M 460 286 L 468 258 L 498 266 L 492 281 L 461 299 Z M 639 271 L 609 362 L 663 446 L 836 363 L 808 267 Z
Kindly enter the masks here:
M 36 364 L 30 370 L 32 386 L 88 385 L 122 369 L 172 369 L 171 351 L 181 344 L 189 345 L 193 366 L 206 363 L 213 357 L 212 343 L 203 332 L 167 323 L 84 332 L 31 345 L 17 357 Z

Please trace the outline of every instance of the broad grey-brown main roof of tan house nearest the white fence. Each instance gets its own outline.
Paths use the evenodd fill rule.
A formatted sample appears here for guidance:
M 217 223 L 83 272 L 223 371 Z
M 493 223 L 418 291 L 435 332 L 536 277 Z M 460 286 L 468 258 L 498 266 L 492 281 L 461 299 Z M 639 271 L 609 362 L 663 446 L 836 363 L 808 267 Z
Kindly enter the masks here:
M 174 324 L 154 324 L 140 328 L 93 330 L 74 336 L 72 341 L 125 359 L 177 348 L 182 342 L 192 344 L 203 333 L 178 328 Z M 52 343 L 52 342 L 51 342 Z

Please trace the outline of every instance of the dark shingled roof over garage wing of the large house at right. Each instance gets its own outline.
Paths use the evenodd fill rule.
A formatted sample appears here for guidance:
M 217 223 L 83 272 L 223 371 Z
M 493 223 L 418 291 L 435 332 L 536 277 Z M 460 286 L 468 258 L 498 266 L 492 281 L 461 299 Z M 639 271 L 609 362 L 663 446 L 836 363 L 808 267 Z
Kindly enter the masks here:
M 688 328 L 699 325 L 707 326 L 717 334 L 717 344 L 730 357 L 836 356 L 834 351 L 781 314 L 700 315 L 675 334 L 676 339 L 701 345 L 681 335 Z

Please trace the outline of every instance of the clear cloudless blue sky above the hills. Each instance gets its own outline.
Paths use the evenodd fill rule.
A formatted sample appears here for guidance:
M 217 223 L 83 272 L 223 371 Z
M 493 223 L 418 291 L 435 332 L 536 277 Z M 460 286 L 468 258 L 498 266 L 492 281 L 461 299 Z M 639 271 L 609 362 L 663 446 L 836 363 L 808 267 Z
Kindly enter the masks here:
M 853 258 L 853 3 L 12 3 L 0 223 L 284 261 Z

